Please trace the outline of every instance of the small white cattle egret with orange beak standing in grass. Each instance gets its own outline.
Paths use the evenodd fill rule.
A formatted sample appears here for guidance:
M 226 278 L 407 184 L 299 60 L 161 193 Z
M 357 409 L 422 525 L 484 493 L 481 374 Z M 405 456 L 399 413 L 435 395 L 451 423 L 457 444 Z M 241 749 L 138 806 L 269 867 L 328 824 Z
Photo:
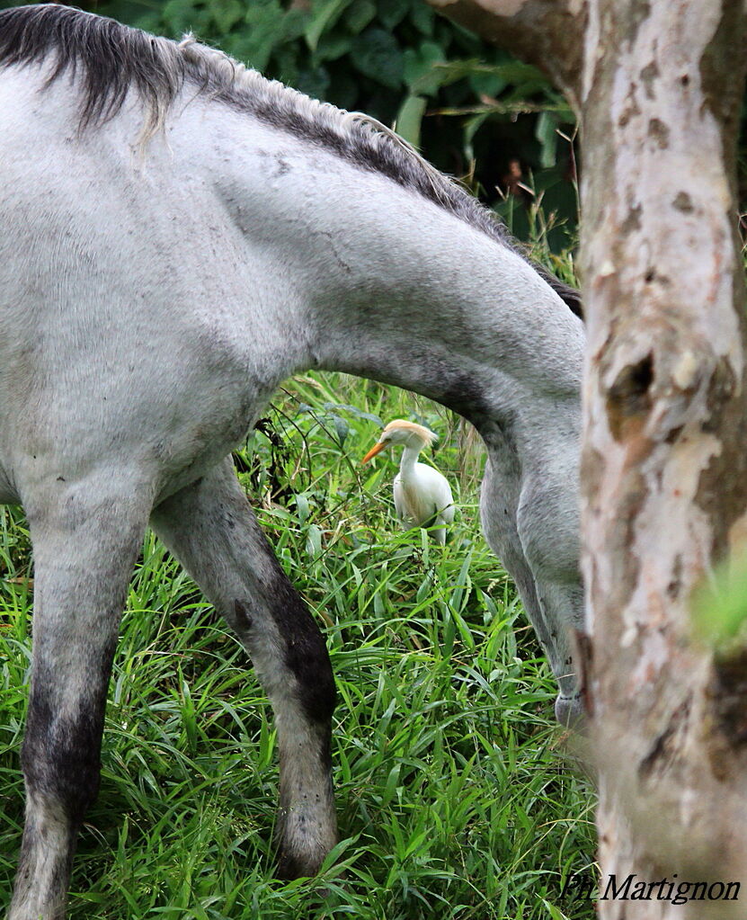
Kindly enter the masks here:
M 418 454 L 438 438 L 437 434 L 414 421 L 395 419 L 382 431 L 378 443 L 366 454 L 368 461 L 392 444 L 402 444 L 402 459 L 395 477 L 396 516 L 407 527 L 433 527 L 433 535 L 443 546 L 446 526 L 454 521 L 454 497 L 447 479 L 437 469 L 418 463 Z

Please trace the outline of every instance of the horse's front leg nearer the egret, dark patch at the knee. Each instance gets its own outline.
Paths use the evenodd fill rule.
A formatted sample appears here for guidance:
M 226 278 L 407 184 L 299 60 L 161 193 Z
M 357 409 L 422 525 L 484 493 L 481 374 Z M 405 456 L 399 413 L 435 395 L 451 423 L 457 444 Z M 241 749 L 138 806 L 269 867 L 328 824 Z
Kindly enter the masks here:
M 160 504 L 151 524 L 251 656 L 278 730 L 279 875 L 313 875 L 337 841 L 329 753 L 335 684 L 324 638 L 230 461 Z

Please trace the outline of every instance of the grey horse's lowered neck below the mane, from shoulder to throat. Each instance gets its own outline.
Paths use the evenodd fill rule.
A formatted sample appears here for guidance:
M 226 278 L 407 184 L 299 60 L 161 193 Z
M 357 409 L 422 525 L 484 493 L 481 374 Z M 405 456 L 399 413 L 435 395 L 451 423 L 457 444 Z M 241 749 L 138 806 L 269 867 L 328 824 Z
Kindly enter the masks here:
M 545 392 L 577 397 L 580 321 L 511 249 L 289 132 L 234 112 L 208 131 L 199 106 L 183 117 L 185 155 L 203 158 L 230 232 L 243 238 L 241 270 L 261 284 L 289 369 L 373 377 L 476 421 L 515 417 Z

